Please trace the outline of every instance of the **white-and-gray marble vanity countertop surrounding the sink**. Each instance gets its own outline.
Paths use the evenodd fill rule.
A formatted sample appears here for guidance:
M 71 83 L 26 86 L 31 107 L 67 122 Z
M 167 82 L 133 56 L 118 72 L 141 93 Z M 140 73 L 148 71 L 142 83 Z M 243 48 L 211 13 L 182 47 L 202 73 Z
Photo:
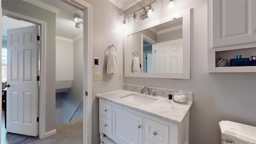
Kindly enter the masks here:
M 150 116 L 154 116 L 156 118 L 160 118 L 162 120 L 166 120 L 168 122 L 173 122 L 175 124 L 181 124 L 183 122 L 188 110 L 192 105 L 192 102 L 189 101 L 187 103 L 176 103 L 173 100 L 169 100 L 168 98 L 162 96 L 154 97 L 158 98 L 159 100 L 149 105 L 140 104 L 121 98 L 130 94 L 140 95 L 139 92 L 117 90 L 114 92 L 97 94 L 96 97 L 144 114 L 148 114 Z M 143 94 L 143 96 L 146 95 Z

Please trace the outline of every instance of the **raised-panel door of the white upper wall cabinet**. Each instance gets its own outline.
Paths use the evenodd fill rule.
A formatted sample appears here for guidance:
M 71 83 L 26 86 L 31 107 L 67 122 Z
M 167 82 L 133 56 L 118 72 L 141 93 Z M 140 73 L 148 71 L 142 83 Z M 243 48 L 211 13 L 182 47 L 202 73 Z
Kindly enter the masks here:
M 255 0 L 212 0 L 212 47 L 256 42 Z

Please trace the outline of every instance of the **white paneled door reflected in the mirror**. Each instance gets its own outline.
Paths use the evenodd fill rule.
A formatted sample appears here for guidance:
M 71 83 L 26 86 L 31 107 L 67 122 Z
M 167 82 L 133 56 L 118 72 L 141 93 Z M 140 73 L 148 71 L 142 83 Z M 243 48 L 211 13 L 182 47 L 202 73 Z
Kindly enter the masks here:
M 183 72 L 183 40 L 156 43 L 156 73 Z

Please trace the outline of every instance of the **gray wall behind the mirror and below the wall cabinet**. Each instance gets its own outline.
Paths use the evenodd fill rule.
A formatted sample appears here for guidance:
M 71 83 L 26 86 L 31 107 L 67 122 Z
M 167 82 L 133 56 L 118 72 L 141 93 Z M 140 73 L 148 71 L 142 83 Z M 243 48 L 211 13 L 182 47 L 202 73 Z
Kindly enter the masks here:
M 162 2 L 165 1 L 154 3 L 154 10 L 167 14 L 167 10 L 162 8 L 167 4 Z M 183 88 L 193 92 L 193 104 L 190 110 L 190 144 L 220 144 L 221 133 L 218 122 L 221 120 L 256 126 L 256 74 L 207 71 L 207 2 L 207 0 L 176 1 L 176 6 L 172 10 L 175 12 L 175 10 L 194 8 L 191 22 L 190 80 L 124 78 L 124 84 L 166 89 Z M 128 9 L 124 15 L 137 8 Z

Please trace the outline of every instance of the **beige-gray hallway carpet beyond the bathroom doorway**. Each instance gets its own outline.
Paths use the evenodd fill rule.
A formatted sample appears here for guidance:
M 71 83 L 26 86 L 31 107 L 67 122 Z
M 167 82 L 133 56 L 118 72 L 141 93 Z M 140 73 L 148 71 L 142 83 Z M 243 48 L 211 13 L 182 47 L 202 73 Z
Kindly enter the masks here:
M 34 140 L 28 144 L 82 144 L 83 143 L 83 118 L 72 120 L 56 126 L 57 133 Z

